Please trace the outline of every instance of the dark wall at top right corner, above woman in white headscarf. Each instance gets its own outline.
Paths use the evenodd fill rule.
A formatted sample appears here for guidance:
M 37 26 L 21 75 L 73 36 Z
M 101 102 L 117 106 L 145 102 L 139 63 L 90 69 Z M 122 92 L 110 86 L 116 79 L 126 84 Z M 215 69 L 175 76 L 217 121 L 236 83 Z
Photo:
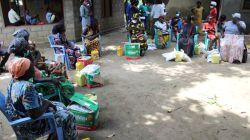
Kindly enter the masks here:
M 222 14 L 227 16 L 227 19 L 230 20 L 232 14 L 235 12 L 241 13 L 241 18 L 247 24 L 247 33 L 250 33 L 250 10 L 242 11 L 242 1 L 243 0 L 223 0 L 222 3 Z

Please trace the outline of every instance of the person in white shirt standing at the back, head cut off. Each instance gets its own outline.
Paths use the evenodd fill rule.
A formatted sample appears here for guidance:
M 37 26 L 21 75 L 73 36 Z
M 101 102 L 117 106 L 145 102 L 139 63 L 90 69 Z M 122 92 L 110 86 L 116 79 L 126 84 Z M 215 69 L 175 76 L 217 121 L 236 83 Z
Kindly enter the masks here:
M 166 14 L 165 4 L 162 0 L 156 0 L 151 10 L 151 19 L 153 19 L 152 26 L 154 26 L 160 16 L 166 16 Z M 152 27 L 151 29 L 152 39 L 154 39 L 154 28 Z

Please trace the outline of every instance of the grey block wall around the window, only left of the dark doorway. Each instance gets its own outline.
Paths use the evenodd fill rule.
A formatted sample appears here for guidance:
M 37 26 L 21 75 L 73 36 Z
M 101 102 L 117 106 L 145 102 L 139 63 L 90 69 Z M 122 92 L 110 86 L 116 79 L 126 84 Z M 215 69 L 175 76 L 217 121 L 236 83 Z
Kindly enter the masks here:
M 79 20 L 79 12 L 76 12 L 76 4 L 78 0 L 64 0 L 64 20 L 66 23 L 66 34 L 68 39 L 75 40 L 81 36 L 81 28 Z M 0 6 L 0 40 L 3 40 L 5 45 L 8 45 L 13 39 L 12 33 L 20 28 L 25 28 L 30 32 L 30 39 L 37 42 L 43 43 L 48 42 L 48 35 L 51 33 L 54 24 L 48 25 L 29 25 L 29 26 L 7 26 L 4 25 L 2 9 Z M 79 28 L 79 29 L 78 29 Z M 79 32 L 80 30 L 80 32 Z

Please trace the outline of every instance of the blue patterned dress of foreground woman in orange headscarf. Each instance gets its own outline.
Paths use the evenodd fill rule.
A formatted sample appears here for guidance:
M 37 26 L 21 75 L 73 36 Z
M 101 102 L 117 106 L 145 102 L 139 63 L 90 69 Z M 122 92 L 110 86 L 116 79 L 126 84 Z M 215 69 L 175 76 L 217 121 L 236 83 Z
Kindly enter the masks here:
M 6 114 L 12 121 L 28 117 L 27 110 L 39 108 L 44 99 L 35 90 L 32 83 L 27 81 L 12 80 L 8 87 L 6 99 Z M 55 120 L 63 128 L 65 140 L 76 140 L 77 131 L 75 117 L 68 112 L 62 103 L 53 103 L 57 111 L 54 112 Z M 49 129 L 47 120 L 40 120 L 15 128 L 17 135 L 23 137 L 39 137 Z

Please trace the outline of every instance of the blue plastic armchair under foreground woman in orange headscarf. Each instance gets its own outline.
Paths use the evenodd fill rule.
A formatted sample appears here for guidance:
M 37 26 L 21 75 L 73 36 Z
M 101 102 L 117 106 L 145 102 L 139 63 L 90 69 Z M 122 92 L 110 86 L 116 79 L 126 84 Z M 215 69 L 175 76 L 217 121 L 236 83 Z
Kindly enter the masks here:
M 55 121 L 53 113 L 44 113 L 41 117 L 39 117 L 36 120 L 33 120 L 30 117 L 26 117 L 26 118 L 21 118 L 21 119 L 15 120 L 15 121 L 11 121 L 9 116 L 5 113 L 5 110 L 6 110 L 5 96 L 1 92 L 0 92 L 0 110 L 4 114 L 4 116 L 8 119 L 9 124 L 13 128 L 14 131 L 15 131 L 15 127 L 17 127 L 17 126 L 25 125 L 27 123 L 32 123 L 32 122 L 35 122 L 37 120 L 46 119 L 49 122 L 49 128 L 50 129 L 47 132 L 45 132 L 45 134 L 43 136 L 46 136 L 46 135 L 49 135 L 49 134 L 52 134 L 52 133 L 56 132 L 57 133 L 57 139 L 58 140 L 64 140 L 62 127 L 57 126 L 57 123 Z M 42 136 L 40 136 L 40 137 L 42 137 Z M 31 137 L 25 138 L 25 137 L 17 135 L 17 140 L 34 140 L 34 139 L 36 139 L 36 138 L 31 138 Z

